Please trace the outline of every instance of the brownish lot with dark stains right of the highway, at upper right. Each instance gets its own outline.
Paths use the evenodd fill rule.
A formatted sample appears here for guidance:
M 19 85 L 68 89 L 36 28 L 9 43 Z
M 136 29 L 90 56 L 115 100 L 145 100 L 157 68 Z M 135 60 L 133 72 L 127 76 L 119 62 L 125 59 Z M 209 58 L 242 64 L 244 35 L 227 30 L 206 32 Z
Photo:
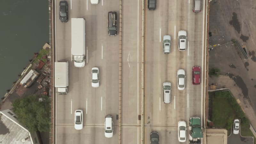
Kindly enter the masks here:
M 232 39 L 246 46 L 249 59 L 245 59 L 232 43 L 209 51 L 209 68 L 220 68 L 229 73 L 242 89 L 256 111 L 256 2 L 255 0 L 212 0 L 210 3 L 209 44 L 224 44 Z M 230 65 L 232 64 L 232 65 Z

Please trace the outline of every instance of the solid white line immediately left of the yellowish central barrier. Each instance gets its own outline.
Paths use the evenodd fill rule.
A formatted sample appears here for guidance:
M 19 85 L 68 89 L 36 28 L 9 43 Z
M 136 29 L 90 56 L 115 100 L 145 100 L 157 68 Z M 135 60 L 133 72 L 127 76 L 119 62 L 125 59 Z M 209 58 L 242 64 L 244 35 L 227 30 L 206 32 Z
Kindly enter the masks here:
M 137 18 L 137 113 L 139 114 L 139 0 L 138 0 L 137 17 L 138 17 Z M 138 121 L 138 124 L 139 124 L 139 121 Z M 139 133 L 138 133 L 138 143 L 139 143 Z

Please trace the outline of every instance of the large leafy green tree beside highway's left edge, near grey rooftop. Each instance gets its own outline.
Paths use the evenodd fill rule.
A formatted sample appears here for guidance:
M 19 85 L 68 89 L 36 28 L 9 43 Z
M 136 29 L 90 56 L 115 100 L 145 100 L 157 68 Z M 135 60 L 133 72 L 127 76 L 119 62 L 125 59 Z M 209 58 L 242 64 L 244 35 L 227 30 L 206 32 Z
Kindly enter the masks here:
M 38 99 L 43 101 L 39 102 Z M 13 102 L 13 112 L 20 123 L 27 126 L 29 132 L 50 131 L 50 99 L 46 96 L 28 95 Z

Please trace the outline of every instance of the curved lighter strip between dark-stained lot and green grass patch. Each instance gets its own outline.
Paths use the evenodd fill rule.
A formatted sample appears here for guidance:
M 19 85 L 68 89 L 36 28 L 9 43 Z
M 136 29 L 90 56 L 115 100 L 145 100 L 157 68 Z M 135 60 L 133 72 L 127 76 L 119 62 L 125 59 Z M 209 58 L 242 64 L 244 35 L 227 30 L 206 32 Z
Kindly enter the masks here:
M 220 88 L 228 88 L 233 96 L 236 98 L 236 101 L 241 106 L 242 110 L 245 113 L 245 116 L 250 120 L 252 127 L 254 130 L 256 129 L 256 115 L 254 110 L 250 104 L 250 101 L 244 97 L 241 89 L 236 85 L 233 79 L 230 79 L 228 76 L 220 76 L 220 77 L 210 77 L 209 84 L 218 83 L 217 89 Z M 256 133 L 252 132 L 256 137 Z

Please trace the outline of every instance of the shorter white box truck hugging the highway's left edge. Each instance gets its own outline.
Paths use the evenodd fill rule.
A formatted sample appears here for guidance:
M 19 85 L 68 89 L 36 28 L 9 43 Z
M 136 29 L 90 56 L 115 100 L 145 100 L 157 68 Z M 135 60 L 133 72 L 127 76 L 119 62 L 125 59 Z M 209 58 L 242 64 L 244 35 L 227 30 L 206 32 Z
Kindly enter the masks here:
M 68 61 L 54 63 L 54 86 L 59 94 L 68 93 Z

